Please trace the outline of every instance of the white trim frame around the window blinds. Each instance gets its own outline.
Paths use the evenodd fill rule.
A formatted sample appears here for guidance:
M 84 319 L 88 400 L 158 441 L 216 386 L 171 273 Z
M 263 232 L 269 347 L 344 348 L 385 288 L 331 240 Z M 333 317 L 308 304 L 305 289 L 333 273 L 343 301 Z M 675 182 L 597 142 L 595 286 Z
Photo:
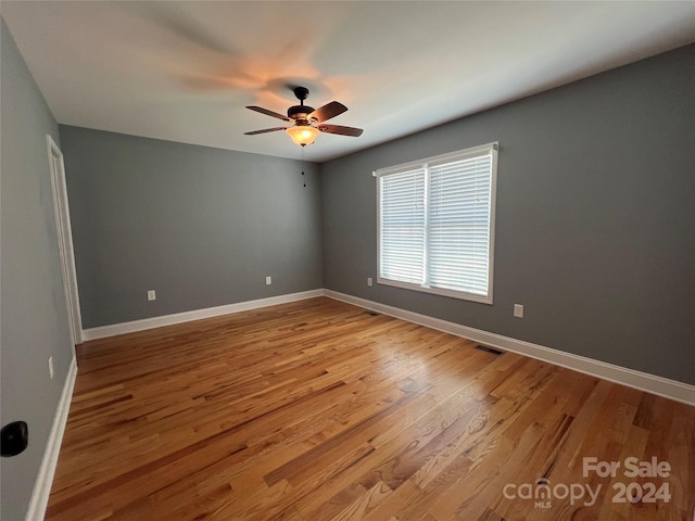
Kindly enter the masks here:
M 395 288 L 402 288 L 406 290 L 419 291 L 422 293 L 431 293 L 435 295 L 448 296 L 452 298 L 459 298 L 464 301 L 478 302 L 481 304 L 493 303 L 494 294 L 494 251 L 495 251 L 495 214 L 496 214 L 496 201 L 497 201 L 497 152 L 500 143 L 497 141 L 482 144 L 480 147 L 472 147 L 469 149 L 451 152 L 447 154 L 435 155 L 432 157 L 426 157 L 424 160 L 403 163 L 400 165 L 389 166 L 386 168 L 379 168 L 374 171 L 374 177 L 377 178 L 377 283 L 382 285 L 391 285 Z M 379 178 L 388 176 L 390 174 L 397 174 L 410 168 L 426 168 L 429 170 L 429 165 L 432 163 L 445 163 L 448 160 L 465 160 L 466 157 L 480 155 L 481 152 L 490 152 L 492 155 L 491 164 L 491 180 L 490 180 L 490 242 L 488 254 L 488 294 L 479 295 L 476 293 L 468 293 L 464 291 L 453 291 L 440 288 L 430 288 L 429 285 L 415 284 L 408 282 L 401 282 L 391 279 L 381 278 L 381 192 Z M 429 191 L 429 183 L 426 183 L 426 191 Z M 429 198 L 426 198 L 426 202 Z M 426 203 L 427 204 L 427 203 Z M 426 227 L 429 223 L 429 208 L 426 212 Z M 426 244 L 428 233 L 426 233 Z M 427 246 L 429 247 L 429 245 Z M 426 250 L 426 255 L 428 251 Z M 426 277 L 429 279 L 429 275 Z M 426 280 L 427 284 L 427 280 Z

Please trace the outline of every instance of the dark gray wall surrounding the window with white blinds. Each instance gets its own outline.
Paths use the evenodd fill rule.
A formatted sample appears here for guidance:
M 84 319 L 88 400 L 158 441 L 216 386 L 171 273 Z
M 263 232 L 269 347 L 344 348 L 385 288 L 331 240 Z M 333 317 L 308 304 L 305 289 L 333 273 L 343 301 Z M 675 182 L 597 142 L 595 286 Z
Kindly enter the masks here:
M 690 46 L 321 165 L 325 287 L 695 383 L 694 85 Z M 371 171 L 495 140 L 494 305 L 368 288 Z

